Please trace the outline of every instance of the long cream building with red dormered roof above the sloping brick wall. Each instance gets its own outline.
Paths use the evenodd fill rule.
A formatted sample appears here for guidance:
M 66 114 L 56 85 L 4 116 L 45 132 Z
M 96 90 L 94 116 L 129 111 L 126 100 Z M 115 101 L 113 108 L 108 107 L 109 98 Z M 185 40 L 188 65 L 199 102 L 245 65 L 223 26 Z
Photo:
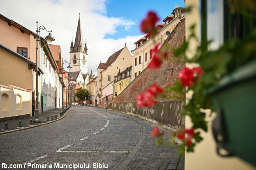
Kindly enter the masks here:
M 135 49 L 132 50 L 132 80 L 134 80 L 152 60 L 152 48 L 154 45 L 158 44 L 158 49 L 164 43 L 166 38 L 166 32 L 172 32 L 176 25 L 180 22 L 178 18 L 173 15 L 167 16 L 163 22 L 156 26 L 157 34 L 154 37 L 151 37 L 150 34 L 147 34 L 137 42 L 135 42 Z M 184 13 L 182 14 L 184 16 Z

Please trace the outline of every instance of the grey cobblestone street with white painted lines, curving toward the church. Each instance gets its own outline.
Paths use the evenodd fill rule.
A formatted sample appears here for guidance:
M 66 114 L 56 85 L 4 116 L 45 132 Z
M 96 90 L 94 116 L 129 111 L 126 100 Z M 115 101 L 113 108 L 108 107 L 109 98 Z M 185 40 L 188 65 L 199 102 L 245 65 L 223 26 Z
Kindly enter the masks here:
M 0 135 L 0 168 L 2 163 L 22 167 L 30 163 L 72 169 L 61 166 L 74 163 L 93 169 L 93 163 L 98 163 L 105 166 L 99 169 L 168 169 L 178 148 L 156 146 L 150 137 L 152 128 L 154 125 L 138 117 L 98 107 L 73 106 L 60 121 Z M 166 131 L 166 140 L 168 134 Z M 54 168 L 58 163 L 60 166 Z

